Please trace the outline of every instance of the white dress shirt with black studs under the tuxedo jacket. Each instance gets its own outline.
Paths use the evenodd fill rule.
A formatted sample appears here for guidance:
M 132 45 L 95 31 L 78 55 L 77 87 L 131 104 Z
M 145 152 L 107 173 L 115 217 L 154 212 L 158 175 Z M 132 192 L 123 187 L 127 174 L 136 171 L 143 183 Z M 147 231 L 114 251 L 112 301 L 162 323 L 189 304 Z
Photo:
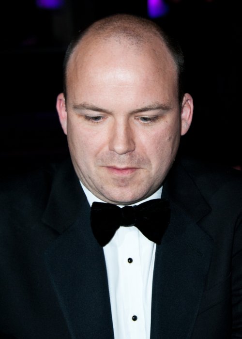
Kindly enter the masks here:
M 90 206 L 104 202 L 82 188 Z M 161 192 L 162 187 L 136 205 L 161 198 Z M 115 339 L 150 338 L 155 249 L 156 244 L 135 226 L 121 226 L 104 247 Z

